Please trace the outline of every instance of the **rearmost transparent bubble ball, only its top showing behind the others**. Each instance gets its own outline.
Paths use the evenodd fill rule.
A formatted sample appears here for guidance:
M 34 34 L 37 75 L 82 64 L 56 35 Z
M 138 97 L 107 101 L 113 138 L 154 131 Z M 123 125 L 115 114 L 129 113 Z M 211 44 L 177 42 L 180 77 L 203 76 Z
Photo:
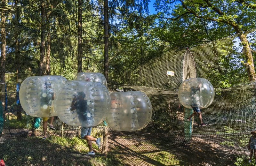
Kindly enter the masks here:
M 108 87 L 108 83 L 106 78 L 101 73 L 96 72 L 79 72 L 76 74 L 74 80 L 76 81 L 86 81 L 86 82 L 101 82 L 106 87 Z

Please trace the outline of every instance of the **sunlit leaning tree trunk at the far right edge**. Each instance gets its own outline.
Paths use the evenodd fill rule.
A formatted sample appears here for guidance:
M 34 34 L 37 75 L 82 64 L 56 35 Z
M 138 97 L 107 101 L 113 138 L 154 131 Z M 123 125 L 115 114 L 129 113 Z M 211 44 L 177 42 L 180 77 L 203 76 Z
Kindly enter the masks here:
M 241 33 L 239 35 L 239 38 L 241 40 L 241 43 L 243 45 L 242 52 L 245 55 L 245 60 L 246 62 L 244 63 L 246 72 L 248 74 L 248 78 L 250 82 L 255 82 L 256 81 L 256 74 L 254 70 L 254 64 L 253 64 L 253 57 L 252 57 L 252 52 L 250 49 L 250 45 L 248 40 L 246 39 L 246 35 L 244 33 Z

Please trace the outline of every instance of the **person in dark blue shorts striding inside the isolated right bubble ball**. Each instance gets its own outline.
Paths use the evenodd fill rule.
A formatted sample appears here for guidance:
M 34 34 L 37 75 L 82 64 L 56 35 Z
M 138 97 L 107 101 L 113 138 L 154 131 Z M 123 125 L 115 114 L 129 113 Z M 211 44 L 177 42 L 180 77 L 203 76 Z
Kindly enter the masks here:
M 206 126 L 207 124 L 203 123 L 203 119 L 202 119 L 202 114 L 201 111 L 198 107 L 198 101 L 199 101 L 199 96 L 198 96 L 198 92 L 200 91 L 200 87 L 201 87 L 201 82 L 198 84 L 198 86 L 191 86 L 190 90 L 191 90 L 191 98 L 192 98 L 192 104 L 190 105 L 192 107 L 192 109 L 194 110 L 194 112 L 187 117 L 187 121 L 191 121 L 193 116 L 195 116 L 196 114 L 198 114 L 199 120 L 200 120 L 200 125 L 201 126 Z

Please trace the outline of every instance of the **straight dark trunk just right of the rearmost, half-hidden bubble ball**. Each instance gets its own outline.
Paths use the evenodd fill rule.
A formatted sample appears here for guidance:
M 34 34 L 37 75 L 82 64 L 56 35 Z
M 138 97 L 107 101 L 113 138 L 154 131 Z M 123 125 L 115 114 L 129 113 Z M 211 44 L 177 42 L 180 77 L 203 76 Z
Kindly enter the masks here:
M 108 82 L 108 0 L 104 0 L 104 76 Z

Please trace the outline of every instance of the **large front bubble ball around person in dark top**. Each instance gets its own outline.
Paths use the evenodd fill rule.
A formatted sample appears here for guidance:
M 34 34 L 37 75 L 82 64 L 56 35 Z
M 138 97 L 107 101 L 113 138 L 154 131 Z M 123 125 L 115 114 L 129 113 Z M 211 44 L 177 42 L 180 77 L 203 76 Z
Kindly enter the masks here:
M 68 80 L 56 96 L 54 108 L 58 117 L 72 126 L 96 126 L 110 108 L 110 94 L 100 82 Z

